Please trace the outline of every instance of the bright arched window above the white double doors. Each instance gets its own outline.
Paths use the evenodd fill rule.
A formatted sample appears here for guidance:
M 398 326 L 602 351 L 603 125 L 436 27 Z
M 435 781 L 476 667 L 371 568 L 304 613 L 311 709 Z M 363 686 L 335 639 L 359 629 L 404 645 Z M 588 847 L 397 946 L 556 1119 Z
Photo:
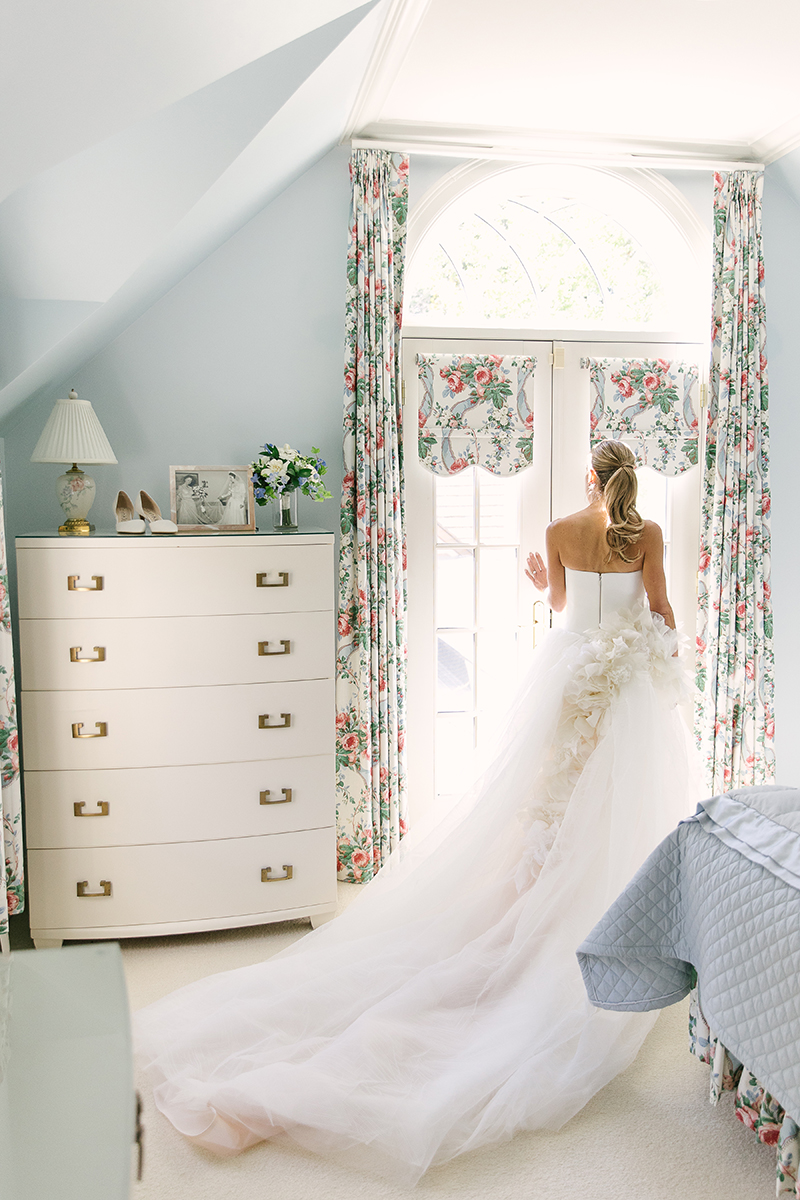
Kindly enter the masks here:
M 706 288 L 669 205 L 646 186 L 652 179 L 504 168 L 444 198 L 409 262 L 407 322 L 685 329 L 699 318 Z

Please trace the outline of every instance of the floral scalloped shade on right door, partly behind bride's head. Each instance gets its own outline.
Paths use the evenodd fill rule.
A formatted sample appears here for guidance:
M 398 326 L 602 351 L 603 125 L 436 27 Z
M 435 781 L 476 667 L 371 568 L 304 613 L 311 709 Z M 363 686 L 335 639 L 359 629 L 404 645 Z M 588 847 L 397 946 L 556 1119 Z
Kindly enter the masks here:
M 591 445 L 614 438 L 661 475 L 696 467 L 699 370 L 666 359 L 589 359 Z

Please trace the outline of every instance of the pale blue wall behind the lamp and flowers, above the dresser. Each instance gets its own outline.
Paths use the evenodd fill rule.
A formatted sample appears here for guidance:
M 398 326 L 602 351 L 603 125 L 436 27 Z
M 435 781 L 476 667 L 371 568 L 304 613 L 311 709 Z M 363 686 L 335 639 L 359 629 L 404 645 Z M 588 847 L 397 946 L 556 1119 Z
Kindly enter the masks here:
M 333 499 L 301 498 L 335 528 L 341 487 L 349 150 L 331 151 L 68 379 L 12 416 L 8 533 L 55 529 L 60 468 L 30 455 L 53 401 L 90 400 L 119 466 L 95 467 L 92 521 L 110 527 L 118 488 L 169 508 L 170 463 L 248 462 L 264 440 L 321 448 Z M 266 527 L 266 510 L 259 510 Z

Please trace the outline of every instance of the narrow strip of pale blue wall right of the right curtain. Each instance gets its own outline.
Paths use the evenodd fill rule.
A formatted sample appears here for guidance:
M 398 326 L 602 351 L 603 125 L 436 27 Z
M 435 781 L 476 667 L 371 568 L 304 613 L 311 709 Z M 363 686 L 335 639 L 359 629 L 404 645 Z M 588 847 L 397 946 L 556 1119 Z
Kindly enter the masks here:
M 800 787 L 800 150 L 764 179 L 766 354 L 770 383 L 775 742 L 778 782 Z

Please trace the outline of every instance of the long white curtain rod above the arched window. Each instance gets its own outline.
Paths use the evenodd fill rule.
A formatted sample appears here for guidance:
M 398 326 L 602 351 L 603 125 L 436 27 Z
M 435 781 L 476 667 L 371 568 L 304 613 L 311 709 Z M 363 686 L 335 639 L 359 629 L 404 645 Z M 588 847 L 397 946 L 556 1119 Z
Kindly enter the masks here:
M 416 138 L 353 138 L 353 150 L 391 150 L 428 154 L 444 158 L 498 158 L 503 162 L 563 162 L 572 167 L 638 167 L 648 170 L 764 170 L 763 162 L 680 155 L 575 154 L 569 150 L 521 150 L 452 142 L 420 142 Z

